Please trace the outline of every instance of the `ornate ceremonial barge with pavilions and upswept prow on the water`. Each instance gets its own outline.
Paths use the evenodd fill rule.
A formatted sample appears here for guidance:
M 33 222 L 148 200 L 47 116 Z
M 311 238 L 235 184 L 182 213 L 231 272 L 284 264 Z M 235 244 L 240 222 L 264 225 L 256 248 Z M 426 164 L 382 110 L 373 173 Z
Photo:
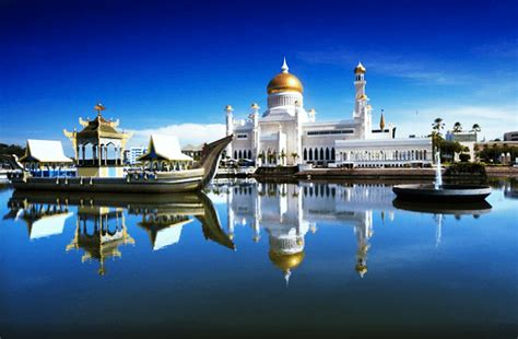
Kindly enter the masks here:
M 61 171 L 63 165 L 72 161 L 62 155 L 59 142 L 59 148 L 51 149 L 45 147 L 42 140 L 32 140 L 27 142 L 24 156 L 20 160 L 15 156 L 9 159 L 16 170 L 9 176 L 14 188 L 84 192 L 201 190 L 214 177 L 221 154 L 233 140 L 233 136 L 227 136 L 204 144 L 200 161 L 193 165 L 188 162 L 187 155 L 179 154 L 179 147 L 167 143 L 175 139 L 152 138 L 149 153 L 141 157 L 142 166 L 125 171 L 122 154 L 131 133 L 119 131 L 118 120 L 105 119 L 102 115 L 103 105 L 96 105 L 95 109 L 95 119 L 85 121 L 80 118 L 83 126 L 81 131 L 63 131 L 73 144 L 74 171 L 70 171 L 70 165 L 68 170 Z M 157 140 L 162 140 L 162 144 L 158 145 Z M 176 149 L 177 156 L 170 155 Z M 54 153 L 59 153 L 59 156 Z

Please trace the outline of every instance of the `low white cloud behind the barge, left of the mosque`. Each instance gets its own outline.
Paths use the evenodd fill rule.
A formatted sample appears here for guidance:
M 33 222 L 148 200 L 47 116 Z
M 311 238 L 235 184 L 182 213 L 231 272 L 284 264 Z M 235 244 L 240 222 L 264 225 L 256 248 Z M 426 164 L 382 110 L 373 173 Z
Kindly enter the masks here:
M 152 133 L 176 136 L 180 144 L 201 144 L 212 142 L 225 136 L 225 125 L 223 124 L 179 124 L 169 125 L 153 129 L 131 130 L 133 137 L 128 142 L 128 147 L 146 145 Z

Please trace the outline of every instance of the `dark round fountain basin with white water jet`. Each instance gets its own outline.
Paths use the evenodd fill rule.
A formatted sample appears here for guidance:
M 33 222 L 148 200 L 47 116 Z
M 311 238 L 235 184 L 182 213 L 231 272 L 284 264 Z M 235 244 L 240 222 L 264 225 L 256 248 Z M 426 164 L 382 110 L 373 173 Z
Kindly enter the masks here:
M 440 153 L 435 153 L 436 171 L 434 185 L 396 185 L 392 191 L 400 200 L 470 202 L 483 201 L 491 195 L 491 187 L 484 185 L 444 185 L 440 172 Z

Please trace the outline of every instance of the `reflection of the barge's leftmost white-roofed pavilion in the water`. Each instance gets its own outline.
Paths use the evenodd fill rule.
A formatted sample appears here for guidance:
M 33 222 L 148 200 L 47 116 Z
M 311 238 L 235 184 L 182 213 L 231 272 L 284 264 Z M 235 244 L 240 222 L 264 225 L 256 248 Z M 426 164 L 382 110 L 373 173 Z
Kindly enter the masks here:
M 50 202 L 28 202 L 27 200 L 9 202 L 10 212 L 3 219 L 23 220 L 27 225 L 30 238 L 36 239 L 61 234 L 64 221 L 73 213 L 67 201 L 56 199 Z

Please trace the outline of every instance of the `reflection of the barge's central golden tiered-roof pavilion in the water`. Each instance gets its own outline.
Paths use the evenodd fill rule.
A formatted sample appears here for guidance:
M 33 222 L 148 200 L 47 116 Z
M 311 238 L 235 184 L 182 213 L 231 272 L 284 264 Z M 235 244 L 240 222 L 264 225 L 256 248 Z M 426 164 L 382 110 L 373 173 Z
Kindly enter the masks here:
M 121 257 L 120 245 L 134 244 L 125 225 L 122 208 L 79 206 L 75 235 L 67 252 L 82 248 L 81 261 L 99 261 L 98 273 L 104 274 L 107 258 Z

